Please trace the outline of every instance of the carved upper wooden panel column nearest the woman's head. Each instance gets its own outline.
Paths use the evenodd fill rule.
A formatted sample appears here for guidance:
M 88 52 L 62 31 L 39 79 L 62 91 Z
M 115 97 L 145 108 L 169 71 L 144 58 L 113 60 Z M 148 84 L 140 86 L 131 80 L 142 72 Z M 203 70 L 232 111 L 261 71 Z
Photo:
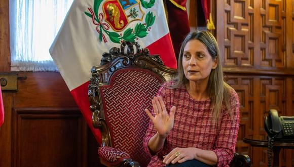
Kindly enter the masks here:
M 252 10 L 248 1 L 230 1 L 225 4 L 224 64 L 226 66 L 253 66 Z

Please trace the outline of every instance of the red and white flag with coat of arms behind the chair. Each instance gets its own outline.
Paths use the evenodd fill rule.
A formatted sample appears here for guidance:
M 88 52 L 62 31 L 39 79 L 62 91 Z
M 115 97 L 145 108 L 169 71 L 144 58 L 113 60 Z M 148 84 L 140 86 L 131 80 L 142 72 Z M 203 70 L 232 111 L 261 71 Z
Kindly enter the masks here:
M 99 143 L 88 99 L 91 68 L 122 41 L 137 41 L 176 68 L 163 1 L 158 0 L 75 0 L 49 50 Z

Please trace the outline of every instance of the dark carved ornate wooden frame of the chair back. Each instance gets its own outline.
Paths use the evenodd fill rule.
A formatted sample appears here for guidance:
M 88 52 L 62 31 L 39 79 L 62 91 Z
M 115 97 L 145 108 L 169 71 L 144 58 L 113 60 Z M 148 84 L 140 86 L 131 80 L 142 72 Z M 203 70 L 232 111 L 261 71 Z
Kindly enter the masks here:
M 109 85 L 111 76 L 124 68 L 150 70 L 157 73 L 163 81 L 170 80 L 176 74 L 176 69 L 166 67 L 159 55 L 150 55 L 148 49 L 139 49 L 139 47 L 137 43 L 126 41 L 121 44 L 121 48 L 114 47 L 109 50 L 109 53 L 103 53 L 100 66 L 94 66 L 91 69 L 92 77 L 88 86 L 88 96 L 91 104 L 90 109 L 93 112 L 93 126 L 98 128 L 102 135 L 101 146 L 112 147 L 112 138 L 105 121 L 100 86 Z M 136 164 L 136 162 L 126 159 L 123 164 L 130 165 Z

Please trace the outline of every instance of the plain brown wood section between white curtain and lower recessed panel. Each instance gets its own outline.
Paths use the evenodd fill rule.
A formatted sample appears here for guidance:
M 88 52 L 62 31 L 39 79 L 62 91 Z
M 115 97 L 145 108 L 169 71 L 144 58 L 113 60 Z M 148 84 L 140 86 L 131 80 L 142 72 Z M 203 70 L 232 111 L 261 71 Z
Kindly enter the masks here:
M 77 106 L 58 72 L 21 72 L 27 79 L 18 81 L 15 107 Z M 38 102 L 36 100 L 38 99 Z

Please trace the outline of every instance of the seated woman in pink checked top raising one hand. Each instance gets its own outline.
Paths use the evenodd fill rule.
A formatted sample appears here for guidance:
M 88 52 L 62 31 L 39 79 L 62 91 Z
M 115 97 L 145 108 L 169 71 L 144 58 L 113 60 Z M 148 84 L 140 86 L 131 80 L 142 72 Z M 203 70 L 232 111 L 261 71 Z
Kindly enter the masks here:
M 239 129 L 238 95 L 226 82 L 217 42 L 208 31 L 182 43 L 177 76 L 152 100 L 144 137 L 149 166 L 228 166 Z

